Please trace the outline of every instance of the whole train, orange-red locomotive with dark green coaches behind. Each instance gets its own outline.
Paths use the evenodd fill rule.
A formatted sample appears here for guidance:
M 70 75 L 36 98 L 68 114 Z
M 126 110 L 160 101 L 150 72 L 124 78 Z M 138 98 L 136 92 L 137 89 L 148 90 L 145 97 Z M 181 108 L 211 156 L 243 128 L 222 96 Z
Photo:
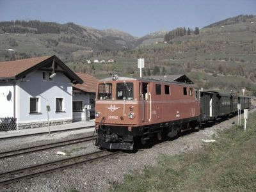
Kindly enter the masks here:
M 202 122 L 250 108 L 250 97 L 200 92 L 186 81 L 112 77 L 99 81 L 95 100 L 96 145 L 132 150 L 134 142 L 174 138 Z

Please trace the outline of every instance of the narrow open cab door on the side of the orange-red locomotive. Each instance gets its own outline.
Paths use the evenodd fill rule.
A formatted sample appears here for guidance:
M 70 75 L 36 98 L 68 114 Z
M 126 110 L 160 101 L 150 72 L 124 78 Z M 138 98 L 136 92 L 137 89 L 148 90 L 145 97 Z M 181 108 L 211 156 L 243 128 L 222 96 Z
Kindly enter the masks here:
M 142 83 L 141 100 L 142 100 L 142 120 L 148 122 L 150 120 L 150 84 Z

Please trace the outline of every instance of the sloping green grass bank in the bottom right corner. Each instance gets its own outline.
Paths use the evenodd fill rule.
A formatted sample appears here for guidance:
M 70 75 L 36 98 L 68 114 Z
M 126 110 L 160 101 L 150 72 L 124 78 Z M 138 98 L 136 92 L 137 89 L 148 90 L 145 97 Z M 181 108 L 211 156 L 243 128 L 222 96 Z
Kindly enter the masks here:
M 256 113 L 246 132 L 232 127 L 204 149 L 162 156 L 156 167 L 126 175 L 111 191 L 255 191 Z

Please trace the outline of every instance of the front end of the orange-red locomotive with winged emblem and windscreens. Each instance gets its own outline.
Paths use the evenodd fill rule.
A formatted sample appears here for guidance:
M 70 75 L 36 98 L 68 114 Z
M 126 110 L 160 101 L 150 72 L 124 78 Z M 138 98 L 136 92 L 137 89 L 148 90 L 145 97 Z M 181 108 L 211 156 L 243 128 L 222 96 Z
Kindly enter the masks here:
M 133 137 L 139 129 L 132 129 L 140 124 L 141 86 L 134 79 L 119 77 L 103 79 L 98 84 L 95 108 L 95 124 L 99 134 L 96 144 L 104 148 L 133 148 Z M 146 95 L 146 93 L 144 94 Z

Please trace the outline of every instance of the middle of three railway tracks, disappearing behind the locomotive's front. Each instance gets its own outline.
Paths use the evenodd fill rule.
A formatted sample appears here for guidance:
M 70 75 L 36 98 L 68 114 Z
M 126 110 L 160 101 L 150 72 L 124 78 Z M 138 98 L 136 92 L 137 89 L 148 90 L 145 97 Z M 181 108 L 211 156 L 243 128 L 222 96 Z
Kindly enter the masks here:
M 0 152 L 0 159 L 6 158 L 6 157 L 13 157 L 13 156 L 20 156 L 20 155 L 24 155 L 24 154 L 29 154 L 29 153 L 33 153 L 33 152 L 38 152 L 38 151 L 42 151 L 42 150 L 48 150 L 51 148 L 56 148 L 56 147 L 63 147 L 66 145 L 72 145 L 72 144 L 76 144 L 76 143 L 82 143 L 84 141 L 90 141 L 94 138 L 92 138 L 92 136 L 86 136 L 83 138 L 77 138 L 77 139 L 72 139 L 72 140 L 65 140 L 65 141 L 58 141 L 55 143 L 48 143 L 48 144 L 44 144 L 44 145 L 36 145 L 33 147 L 26 147 L 26 148 L 19 148 L 19 149 L 15 149 L 15 150 L 9 150 L 9 151 L 5 151 L 5 152 Z

